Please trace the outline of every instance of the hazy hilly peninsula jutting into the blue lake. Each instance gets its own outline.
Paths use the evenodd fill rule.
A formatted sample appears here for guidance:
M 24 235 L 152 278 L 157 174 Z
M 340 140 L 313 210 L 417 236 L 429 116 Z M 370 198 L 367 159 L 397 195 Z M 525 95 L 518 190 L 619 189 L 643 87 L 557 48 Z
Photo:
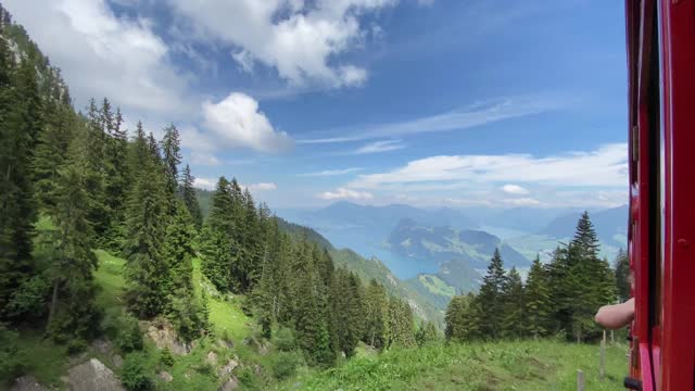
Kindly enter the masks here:
M 428 227 L 414 219 L 402 219 L 389 236 L 391 251 L 413 262 L 467 262 L 473 268 L 484 269 L 495 249 L 500 249 L 505 266 L 523 267 L 530 261 L 498 237 L 471 229 Z

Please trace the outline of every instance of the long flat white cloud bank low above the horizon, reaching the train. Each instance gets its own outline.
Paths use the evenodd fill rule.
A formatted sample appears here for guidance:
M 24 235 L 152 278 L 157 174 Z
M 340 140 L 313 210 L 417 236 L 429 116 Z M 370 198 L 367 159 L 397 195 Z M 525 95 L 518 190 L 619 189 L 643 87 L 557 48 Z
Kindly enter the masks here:
M 536 157 L 528 154 L 440 155 L 409 162 L 391 172 L 361 175 L 353 188 L 414 182 L 522 182 L 567 187 L 627 187 L 627 143 L 591 152 Z

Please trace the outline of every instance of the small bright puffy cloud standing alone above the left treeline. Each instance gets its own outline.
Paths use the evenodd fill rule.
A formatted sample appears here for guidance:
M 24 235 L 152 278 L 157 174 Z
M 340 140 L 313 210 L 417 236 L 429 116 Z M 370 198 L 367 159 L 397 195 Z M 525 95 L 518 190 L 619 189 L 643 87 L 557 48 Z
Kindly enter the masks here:
M 207 133 L 194 128 L 182 131 L 185 147 L 195 151 L 216 151 L 223 148 L 251 148 L 275 153 L 292 149 L 294 142 L 285 131 L 277 131 L 270 121 L 258 111 L 253 98 L 232 92 L 224 100 L 202 104 L 203 126 Z

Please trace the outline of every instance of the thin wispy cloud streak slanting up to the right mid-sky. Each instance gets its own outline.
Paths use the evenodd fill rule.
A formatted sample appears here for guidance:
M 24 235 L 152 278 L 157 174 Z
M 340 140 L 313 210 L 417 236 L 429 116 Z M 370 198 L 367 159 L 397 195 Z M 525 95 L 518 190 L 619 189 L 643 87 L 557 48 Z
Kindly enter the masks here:
M 334 137 L 298 140 L 298 143 L 330 143 L 369 140 L 387 137 L 416 135 L 430 131 L 469 129 L 504 119 L 545 113 L 563 108 L 567 102 L 560 97 L 514 97 L 479 102 L 453 112 L 441 113 L 405 122 L 365 126 L 355 131 L 351 128 L 332 131 Z M 350 134 L 350 136 L 342 136 Z

